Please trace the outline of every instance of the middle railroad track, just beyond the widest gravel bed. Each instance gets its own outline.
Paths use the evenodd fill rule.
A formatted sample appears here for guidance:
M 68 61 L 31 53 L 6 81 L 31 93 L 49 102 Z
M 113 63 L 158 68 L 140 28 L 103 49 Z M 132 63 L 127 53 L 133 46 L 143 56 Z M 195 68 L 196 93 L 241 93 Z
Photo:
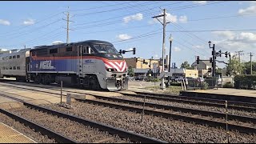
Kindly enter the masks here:
M 89 102 L 89 103 L 98 104 L 102 106 L 110 106 L 110 107 L 114 107 L 122 110 L 136 111 L 137 113 L 142 113 L 143 111 L 142 109 L 143 102 L 128 101 L 128 100 L 119 99 L 119 98 L 106 98 L 101 96 L 95 96 L 95 97 L 98 99 L 94 99 L 94 100 L 81 99 L 81 98 L 75 98 L 75 99 L 79 102 Z M 134 106 L 134 105 L 138 105 L 138 106 Z M 164 118 L 174 118 L 174 119 L 182 120 L 185 122 L 195 122 L 202 125 L 222 127 L 223 129 L 226 129 L 226 122 L 224 121 L 224 119 L 220 120 L 220 118 L 223 118 L 224 116 L 223 114 L 212 113 L 209 111 L 202 111 L 202 110 L 184 109 L 184 108 L 178 108 L 174 106 L 161 106 L 153 103 L 145 103 L 145 106 L 146 106 L 144 110 L 145 114 L 153 114 L 155 116 L 162 116 Z M 176 110 L 176 111 L 173 111 L 173 110 Z M 213 116 L 215 118 L 212 118 Z M 239 119 L 242 122 L 248 122 L 246 120 L 246 117 L 229 115 L 228 118 L 232 120 Z M 252 122 L 256 122 L 255 118 L 248 118 L 248 119 L 250 119 L 250 121 Z M 229 129 L 238 130 L 239 132 L 242 132 L 242 133 L 254 134 L 256 133 L 256 126 L 252 127 L 252 125 L 254 124 L 249 124 L 249 123 L 237 124 L 236 122 L 232 121 L 232 122 L 229 122 Z

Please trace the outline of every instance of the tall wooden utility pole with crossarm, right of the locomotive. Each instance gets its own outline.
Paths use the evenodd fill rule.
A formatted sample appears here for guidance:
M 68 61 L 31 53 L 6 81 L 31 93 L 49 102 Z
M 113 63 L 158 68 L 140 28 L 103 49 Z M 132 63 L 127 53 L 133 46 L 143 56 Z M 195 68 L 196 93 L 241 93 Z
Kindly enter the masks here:
M 161 22 L 158 19 L 159 17 L 163 17 L 163 22 Z M 165 65 L 164 65 L 165 52 L 164 51 L 165 51 L 165 47 L 166 47 L 166 45 L 165 45 L 165 42 L 166 42 L 165 41 L 165 39 L 166 39 L 166 24 L 170 23 L 170 22 L 166 22 L 166 9 L 163 10 L 163 14 L 158 15 L 158 16 L 154 16 L 152 18 L 157 18 L 158 21 L 161 22 L 162 26 L 163 26 L 163 29 L 162 29 L 162 31 L 163 31 L 163 34 L 162 34 L 162 73 L 163 73 L 163 76 L 162 76 L 162 82 L 161 82 L 162 83 L 161 89 L 164 90 L 166 88 L 166 86 L 164 86 L 165 85 L 165 82 L 164 82 L 165 81 L 165 74 L 164 74 L 164 70 L 165 70 Z

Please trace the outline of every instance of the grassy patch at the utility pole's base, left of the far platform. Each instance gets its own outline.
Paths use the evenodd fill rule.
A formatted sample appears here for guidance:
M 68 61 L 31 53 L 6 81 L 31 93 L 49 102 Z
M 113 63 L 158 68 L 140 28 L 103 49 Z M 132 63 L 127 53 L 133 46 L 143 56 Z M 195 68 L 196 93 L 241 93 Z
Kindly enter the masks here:
M 146 90 L 154 90 L 154 93 L 158 94 L 174 94 L 179 95 L 180 91 L 182 90 L 181 86 L 169 86 L 166 87 L 166 90 L 160 90 L 160 86 L 146 86 Z

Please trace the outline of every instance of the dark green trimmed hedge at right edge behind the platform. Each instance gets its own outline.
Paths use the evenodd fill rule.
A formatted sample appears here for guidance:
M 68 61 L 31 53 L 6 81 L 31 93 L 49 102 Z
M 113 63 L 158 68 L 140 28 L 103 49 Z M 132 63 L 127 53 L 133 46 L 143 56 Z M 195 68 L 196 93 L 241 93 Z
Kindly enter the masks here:
M 251 89 L 256 82 L 256 75 L 236 75 L 234 76 L 234 88 Z

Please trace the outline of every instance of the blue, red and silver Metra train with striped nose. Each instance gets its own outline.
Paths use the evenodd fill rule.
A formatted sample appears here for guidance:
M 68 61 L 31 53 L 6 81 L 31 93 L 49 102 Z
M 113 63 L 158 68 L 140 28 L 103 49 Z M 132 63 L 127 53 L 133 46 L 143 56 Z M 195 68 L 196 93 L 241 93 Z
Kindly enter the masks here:
M 110 42 L 87 40 L 0 54 L 0 78 L 90 90 L 128 89 L 127 64 Z

